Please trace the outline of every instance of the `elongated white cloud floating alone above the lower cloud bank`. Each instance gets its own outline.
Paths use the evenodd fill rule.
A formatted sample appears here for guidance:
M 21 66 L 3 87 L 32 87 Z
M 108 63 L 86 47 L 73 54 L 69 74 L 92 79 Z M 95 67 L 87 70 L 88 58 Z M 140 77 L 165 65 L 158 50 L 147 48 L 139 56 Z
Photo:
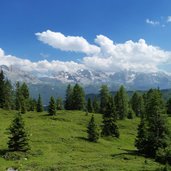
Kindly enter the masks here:
M 60 32 L 52 32 L 50 30 L 36 33 L 35 35 L 43 43 L 63 51 L 94 54 L 100 50 L 97 46 L 89 44 L 86 39 L 79 36 L 65 36 Z

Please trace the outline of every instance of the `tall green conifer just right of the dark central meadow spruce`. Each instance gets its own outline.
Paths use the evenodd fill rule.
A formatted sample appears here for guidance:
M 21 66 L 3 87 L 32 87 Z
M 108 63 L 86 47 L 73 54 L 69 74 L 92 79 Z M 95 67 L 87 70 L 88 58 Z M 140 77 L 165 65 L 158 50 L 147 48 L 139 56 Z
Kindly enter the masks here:
M 116 112 L 119 119 L 125 119 L 128 115 L 128 95 L 124 86 L 121 86 L 115 95 Z

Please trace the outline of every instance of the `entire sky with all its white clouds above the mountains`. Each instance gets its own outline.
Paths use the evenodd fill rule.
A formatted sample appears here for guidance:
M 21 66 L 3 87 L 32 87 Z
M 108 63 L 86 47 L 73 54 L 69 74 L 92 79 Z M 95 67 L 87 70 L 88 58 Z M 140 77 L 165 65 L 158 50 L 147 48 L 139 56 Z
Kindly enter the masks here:
M 171 73 L 171 1 L 0 0 L 0 65 Z

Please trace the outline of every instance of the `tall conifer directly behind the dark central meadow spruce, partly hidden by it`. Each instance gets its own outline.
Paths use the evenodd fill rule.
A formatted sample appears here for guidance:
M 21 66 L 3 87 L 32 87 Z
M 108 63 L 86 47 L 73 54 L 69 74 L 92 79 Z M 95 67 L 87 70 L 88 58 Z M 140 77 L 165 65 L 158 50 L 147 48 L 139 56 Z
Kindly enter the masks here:
M 106 112 L 107 103 L 109 100 L 109 89 L 107 85 L 102 85 L 100 89 L 100 113 Z

